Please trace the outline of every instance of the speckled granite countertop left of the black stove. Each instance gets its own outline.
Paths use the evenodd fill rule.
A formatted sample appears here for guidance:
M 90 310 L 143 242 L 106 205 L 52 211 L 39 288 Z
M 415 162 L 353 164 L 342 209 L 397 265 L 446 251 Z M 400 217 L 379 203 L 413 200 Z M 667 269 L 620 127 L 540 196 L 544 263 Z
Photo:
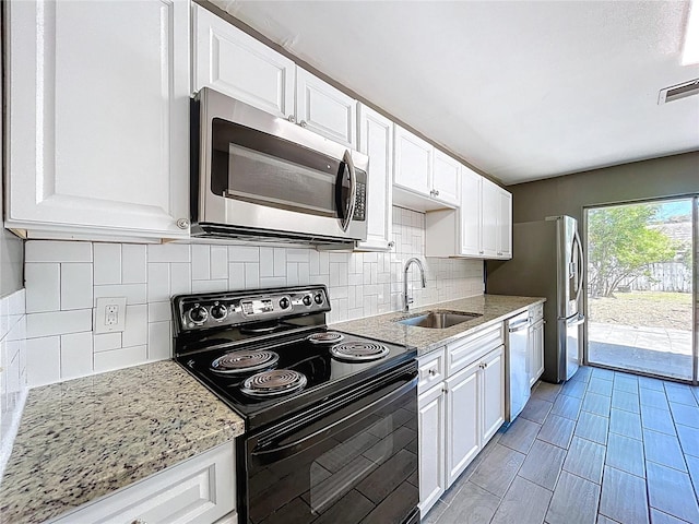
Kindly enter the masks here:
M 44 522 L 242 432 L 238 415 L 169 360 L 31 390 L 0 522 Z

